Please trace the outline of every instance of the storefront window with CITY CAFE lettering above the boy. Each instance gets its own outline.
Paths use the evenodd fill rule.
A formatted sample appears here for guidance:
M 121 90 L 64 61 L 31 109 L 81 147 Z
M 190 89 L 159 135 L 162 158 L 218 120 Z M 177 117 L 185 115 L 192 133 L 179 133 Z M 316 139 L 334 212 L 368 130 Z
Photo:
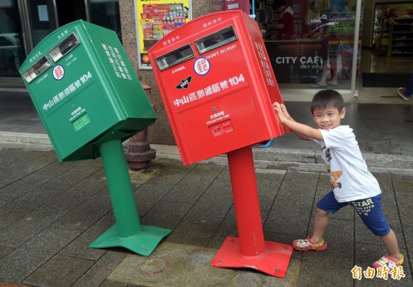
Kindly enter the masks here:
M 275 0 L 266 6 L 273 21 L 266 17 L 260 25 L 279 87 L 350 89 L 356 6 L 357 0 Z

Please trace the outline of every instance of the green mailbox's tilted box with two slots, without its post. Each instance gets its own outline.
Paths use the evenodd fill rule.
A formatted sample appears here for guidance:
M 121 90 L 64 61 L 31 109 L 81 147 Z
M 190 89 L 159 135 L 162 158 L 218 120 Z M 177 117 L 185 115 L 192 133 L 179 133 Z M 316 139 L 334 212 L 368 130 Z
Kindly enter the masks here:
M 48 35 L 20 69 L 59 160 L 100 156 L 156 120 L 116 33 L 74 21 Z

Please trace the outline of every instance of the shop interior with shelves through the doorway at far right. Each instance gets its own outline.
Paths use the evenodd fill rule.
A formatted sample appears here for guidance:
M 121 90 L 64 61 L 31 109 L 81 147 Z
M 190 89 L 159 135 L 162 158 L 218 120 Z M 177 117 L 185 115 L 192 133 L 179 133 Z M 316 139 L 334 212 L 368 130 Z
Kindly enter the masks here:
M 377 2 L 373 13 L 371 42 L 363 43 L 359 74 L 412 73 L 413 1 Z M 399 97 L 397 87 L 364 87 L 363 78 L 358 79 L 362 96 L 354 100 L 359 103 L 413 104 Z

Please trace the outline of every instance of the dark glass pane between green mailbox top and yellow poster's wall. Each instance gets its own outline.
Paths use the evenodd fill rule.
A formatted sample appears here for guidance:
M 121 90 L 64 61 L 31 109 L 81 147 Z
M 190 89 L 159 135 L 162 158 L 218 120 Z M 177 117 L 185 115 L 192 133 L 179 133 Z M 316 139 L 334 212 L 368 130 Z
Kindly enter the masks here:
M 114 30 L 122 42 L 118 0 L 89 0 L 90 22 Z

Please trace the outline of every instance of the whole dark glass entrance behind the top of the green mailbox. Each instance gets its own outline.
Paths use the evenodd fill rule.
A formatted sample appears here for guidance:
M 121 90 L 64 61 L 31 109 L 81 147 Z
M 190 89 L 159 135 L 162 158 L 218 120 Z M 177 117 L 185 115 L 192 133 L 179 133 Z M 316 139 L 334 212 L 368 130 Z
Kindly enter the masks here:
M 21 85 L 26 55 L 57 28 L 83 19 L 122 41 L 118 0 L 0 0 L 0 85 Z

